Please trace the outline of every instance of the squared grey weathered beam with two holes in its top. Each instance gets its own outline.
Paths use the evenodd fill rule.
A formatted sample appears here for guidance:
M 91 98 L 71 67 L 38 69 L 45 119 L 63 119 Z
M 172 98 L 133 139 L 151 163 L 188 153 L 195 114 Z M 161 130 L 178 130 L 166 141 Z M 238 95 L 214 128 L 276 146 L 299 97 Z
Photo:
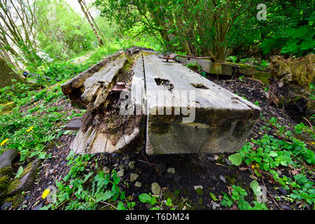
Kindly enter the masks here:
M 144 71 L 148 154 L 232 152 L 243 146 L 260 114 L 258 106 L 155 54 L 144 55 Z M 188 91 L 195 98 L 183 102 L 181 94 Z M 166 115 L 167 109 L 172 113 Z M 195 113 L 194 119 L 185 120 L 183 109 L 189 116 Z

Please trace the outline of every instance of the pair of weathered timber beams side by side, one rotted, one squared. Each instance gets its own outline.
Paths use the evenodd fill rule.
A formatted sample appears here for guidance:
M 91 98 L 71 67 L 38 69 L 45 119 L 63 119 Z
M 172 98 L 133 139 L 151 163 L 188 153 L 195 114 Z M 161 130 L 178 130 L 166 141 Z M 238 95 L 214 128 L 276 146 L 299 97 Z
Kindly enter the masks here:
M 126 83 L 118 91 L 116 83 Z M 86 109 L 76 153 L 218 153 L 244 145 L 260 109 L 153 50 L 106 57 L 62 85 Z

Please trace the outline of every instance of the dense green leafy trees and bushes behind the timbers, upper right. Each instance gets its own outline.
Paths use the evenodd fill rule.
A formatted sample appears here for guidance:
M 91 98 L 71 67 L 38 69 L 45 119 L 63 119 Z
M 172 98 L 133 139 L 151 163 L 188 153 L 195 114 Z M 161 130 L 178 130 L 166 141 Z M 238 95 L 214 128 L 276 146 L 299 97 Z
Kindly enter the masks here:
M 165 50 L 225 59 L 245 50 L 314 50 L 312 1 L 104 1 L 97 6 L 126 32 L 154 36 Z M 256 6 L 265 3 L 266 20 Z M 260 46 L 260 48 L 257 48 Z M 243 54 L 244 55 L 244 54 Z

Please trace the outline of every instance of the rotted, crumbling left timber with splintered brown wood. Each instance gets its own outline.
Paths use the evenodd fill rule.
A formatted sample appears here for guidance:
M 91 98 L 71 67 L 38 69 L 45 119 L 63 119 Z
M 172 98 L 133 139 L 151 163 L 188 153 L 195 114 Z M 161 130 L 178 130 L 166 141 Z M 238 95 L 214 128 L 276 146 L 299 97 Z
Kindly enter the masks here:
M 72 103 L 79 103 L 87 109 L 80 130 L 71 144 L 74 152 L 84 154 L 139 151 L 144 145 L 145 117 L 121 115 L 120 105 L 125 98 L 121 99 L 121 92 L 111 91 L 117 82 L 134 83 L 136 79 L 133 80 L 132 77 L 143 80 L 142 59 L 136 60 L 130 72 L 126 71 L 128 60 L 133 59 L 132 55 L 124 52 L 111 55 L 98 66 L 88 69 L 62 86 Z M 71 91 L 74 87 L 76 91 Z M 135 107 L 132 104 L 131 109 Z

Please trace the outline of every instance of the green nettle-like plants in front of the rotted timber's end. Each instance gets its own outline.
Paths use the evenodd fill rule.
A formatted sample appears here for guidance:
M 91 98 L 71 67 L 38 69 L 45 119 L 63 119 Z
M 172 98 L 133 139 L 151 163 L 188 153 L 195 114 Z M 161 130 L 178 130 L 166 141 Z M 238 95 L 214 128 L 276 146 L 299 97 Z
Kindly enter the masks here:
M 62 181 L 56 181 L 56 202 L 48 204 L 43 209 L 117 209 L 126 210 L 134 207 L 135 202 L 129 202 L 125 192 L 120 189 L 120 177 L 115 169 L 111 174 L 94 172 L 84 174 L 84 170 L 93 155 L 74 155 L 71 151 L 66 158 L 71 169 Z M 93 176 L 94 175 L 94 176 Z M 83 176 L 83 178 L 82 178 Z M 117 204 L 115 206 L 114 204 Z

